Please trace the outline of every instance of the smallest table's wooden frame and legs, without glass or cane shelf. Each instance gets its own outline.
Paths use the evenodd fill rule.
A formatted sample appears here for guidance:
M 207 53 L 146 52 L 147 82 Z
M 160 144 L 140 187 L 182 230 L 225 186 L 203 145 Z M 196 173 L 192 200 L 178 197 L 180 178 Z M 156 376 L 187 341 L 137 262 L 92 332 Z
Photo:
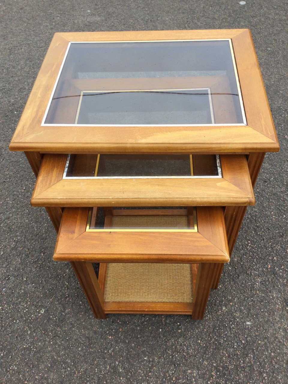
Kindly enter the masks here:
M 71 262 L 96 318 L 105 318 L 106 313 L 143 312 L 203 318 L 215 270 L 230 260 L 222 207 L 198 207 L 197 232 L 161 232 L 161 236 L 157 230 L 87 232 L 88 211 L 88 208 L 65 208 L 53 259 Z M 110 228 L 118 210 L 106 208 L 105 211 L 105 227 Z M 151 212 L 160 215 L 166 214 L 165 211 Z M 127 214 L 136 212 L 126 210 Z M 141 214 L 147 214 L 147 210 L 137 210 L 137 215 Z M 169 215 L 173 214 L 179 215 L 178 210 L 175 213 L 169 210 Z M 92 263 L 100 263 L 98 280 Z M 103 294 L 107 263 L 189 263 L 192 303 L 106 302 Z

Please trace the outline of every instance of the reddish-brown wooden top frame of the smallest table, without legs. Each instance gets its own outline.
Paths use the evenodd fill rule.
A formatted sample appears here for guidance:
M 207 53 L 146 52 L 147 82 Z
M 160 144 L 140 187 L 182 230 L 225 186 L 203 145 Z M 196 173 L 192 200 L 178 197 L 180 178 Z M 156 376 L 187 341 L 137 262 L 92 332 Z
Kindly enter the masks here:
M 65 209 L 54 260 L 104 263 L 229 260 L 221 207 L 197 208 L 199 232 L 86 232 L 87 217 L 88 208 Z

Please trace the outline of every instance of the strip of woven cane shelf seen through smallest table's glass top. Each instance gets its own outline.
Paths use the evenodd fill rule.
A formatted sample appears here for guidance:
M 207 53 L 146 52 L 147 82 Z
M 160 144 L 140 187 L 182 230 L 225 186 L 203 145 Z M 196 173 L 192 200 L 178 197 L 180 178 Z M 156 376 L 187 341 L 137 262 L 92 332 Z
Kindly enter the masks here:
M 187 216 L 113 216 L 112 227 L 116 228 L 185 228 Z

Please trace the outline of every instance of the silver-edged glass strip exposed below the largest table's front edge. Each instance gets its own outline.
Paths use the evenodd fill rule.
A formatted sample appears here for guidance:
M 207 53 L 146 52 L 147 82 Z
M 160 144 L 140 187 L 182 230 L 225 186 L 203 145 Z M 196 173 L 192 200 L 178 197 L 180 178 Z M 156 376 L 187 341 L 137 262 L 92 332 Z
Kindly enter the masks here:
M 221 176 L 216 155 L 90 155 L 68 157 L 64 177 Z

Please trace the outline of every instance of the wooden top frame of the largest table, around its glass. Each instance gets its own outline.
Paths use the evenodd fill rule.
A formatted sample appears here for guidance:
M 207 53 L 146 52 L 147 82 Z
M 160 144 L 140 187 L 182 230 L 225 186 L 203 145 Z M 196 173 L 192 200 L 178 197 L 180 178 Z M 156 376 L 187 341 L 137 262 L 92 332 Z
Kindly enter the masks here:
M 45 120 L 46 109 L 70 42 L 172 40 L 176 41 L 177 44 L 179 40 L 180 44 L 181 41 L 186 40 L 214 39 L 230 39 L 232 42 L 243 98 L 242 109 L 245 111 L 246 121 L 242 124 L 237 122 L 235 125 L 235 118 L 231 120 L 234 122 L 232 125 L 229 125 L 230 120 L 228 119 L 228 123 L 223 123 L 223 125 L 222 123 L 217 125 L 197 123 L 198 125 L 194 124 L 193 126 L 185 124 L 175 124 L 175 126 L 172 124 L 167 126 L 156 124 L 137 126 L 132 124 L 128 126 L 124 124 L 121 127 L 109 124 L 105 126 L 99 124 L 97 126 L 93 126 L 93 124 L 89 126 L 84 124 L 75 126 L 68 123 L 52 124 L 49 120 L 48 123 Z M 188 84 L 186 88 L 194 89 L 199 87 L 199 78 L 199 76 L 184 76 L 180 86 L 177 86 L 177 84 L 174 84 L 175 78 L 169 79 L 169 77 L 166 77 L 164 83 L 169 84 L 169 91 L 171 89 L 172 91 L 178 88 L 182 89 L 185 82 Z M 204 76 L 202 81 L 203 88 L 211 89 L 210 101 L 214 108 L 216 120 L 217 108 L 222 104 L 221 98 L 225 94 L 233 93 L 231 92 L 230 80 L 229 84 L 226 80 L 223 81 L 222 78 L 225 78 L 225 76 L 221 76 L 221 74 L 220 76 L 210 76 L 209 80 L 205 80 Z M 148 78 L 145 80 L 145 78 L 142 78 L 141 80 L 136 79 L 135 82 L 140 90 L 153 88 L 153 79 Z M 99 79 L 97 89 L 99 90 L 102 87 L 101 89 L 108 89 L 111 92 L 112 83 L 111 79 L 106 79 L 104 83 L 103 79 Z M 122 89 L 123 79 L 117 79 L 114 84 L 116 84 L 116 89 Z M 156 89 L 161 88 L 161 79 L 157 78 L 155 84 Z M 85 81 L 85 79 L 81 81 L 76 81 L 76 79 L 71 81 L 70 79 L 66 83 L 63 82 L 63 87 L 67 87 L 70 95 L 73 96 L 74 90 L 77 92 L 90 90 L 91 92 L 91 87 L 94 88 L 94 84 L 93 82 L 89 84 L 89 81 Z M 87 87 L 88 89 L 86 89 Z M 129 79 L 127 87 L 135 90 L 136 86 L 133 85 L 133 80 Z M 216 98 L 213 95 L 218 96 Z M 63 96 L 60 96 L 60 98 L 63 98 Z M 67 100 L 64 100 L 63 103 L 66 103 Z M 75 98 L 73 108 L 79 110 L 76 102 Z M 223 115 L 219 121 L 226 122 L 225 114 L 232 116 L 231 111 L 229 111 L 229 108 L 233 108 L 232 96 L 231 100 L 228 99 L 228 104 L 229 106 L 223 113 L 221 111 L 220 114 L 218 113 L 219 116 Z M 68 120 L 64 119 L 64 121 Z M 245 125 L 246 122 L 247 125 Z M 237 29 L 56 33 L 12 138 L 10 149 L 12 151 L 54 153 L 245 153 L 278 151 L 279 146 L 250 31 Z

